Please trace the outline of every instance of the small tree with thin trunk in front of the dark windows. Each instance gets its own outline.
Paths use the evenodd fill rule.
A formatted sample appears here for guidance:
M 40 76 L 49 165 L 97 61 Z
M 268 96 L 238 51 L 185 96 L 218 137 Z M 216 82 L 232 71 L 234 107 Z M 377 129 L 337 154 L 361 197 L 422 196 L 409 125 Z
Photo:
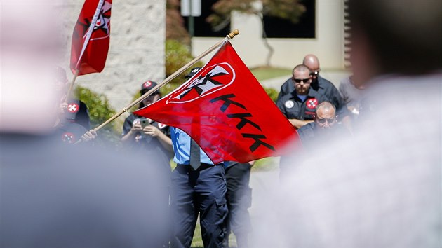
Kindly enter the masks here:
M 264 15 L 297 23 L 306 10 L 300 1 L 301 0 L 218 0 L 212 6 L 213 14 L 209 15 L 206 20 L 212 25 L 214 30 L 218 30 L 229 24 L 232 11 L 257 15 L 262 23 L 264 46 L 269 50 L 266 58 L 266 65 L 268 67 L 270 66 L 274 49 L 267 41 L 267 34 L 264 29 Z M 260 6 L 259 3 L 261 3 L 262 6 Z

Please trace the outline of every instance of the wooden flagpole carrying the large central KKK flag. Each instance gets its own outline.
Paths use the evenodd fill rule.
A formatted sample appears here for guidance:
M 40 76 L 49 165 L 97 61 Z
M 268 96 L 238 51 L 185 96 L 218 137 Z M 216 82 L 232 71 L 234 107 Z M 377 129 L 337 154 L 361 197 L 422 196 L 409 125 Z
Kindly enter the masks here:
M 123 113 L 127 112 L 128 109 L 132 108 L 133 106 L 139 104 L 143 99 L 145 99 L 146 97 L 149 97 L 149 95 L 152 95 L 154 92 L 156 92 L 156 90 L 159 90 L 159 88 L 163 87 L 164 85 L 166 85 L 166 83 L 169 83 L 170 81 L 173 80 L 173 78 L 176 78 L 178 75 L 182 74 L 183 71 L 189 69 L 189 67 L 192 67 L 193 64 L 195 64 L 196 62 L 198 62 L 199 60 L 201 60 L 201 58 L 203 58 L 204 56 L 208 55 L 209 53 L 211 53 L 213 50 L 215 50 L 216 48 L 218 48 L 219 46 L 222 45 L 222 43 L 224 43 L 225 41 L 228 41 L 229 39 L 233 39 L 234 36 L 239 34 L 239 30 L 238 29 L 234 29 L 233 32 L 230 32 L 229 34 L 227 34 L 227 36 L 225 37 L 225 39 L 222 39 L 221 41 L 218 41 L 215 45 L 213 45 L 211 48 L 208 48 L 208 50 L 206 50 L 205 52 L 201 53 L 201 55 L 199 55 L 198 57 L 195 57 L 192 61 L 190 61 L 189 63 L 185 64 L 183 67 L 181 67 L 180 69 L 178 69 L 177 71 L 175 71 L 173 74 L 171 74 L 170 76 L 168 76 L 166 79 L 164 79 L 161 83 L 159 83 L 158 85 L 156 85 L 154 88 L 152 88 L 151 90 L 149 90 L 148 92 L 146 92 L 144 95 L 138 97 L 138 99 L 136 99 L 135 101 L 133 101 L 131 104 L 129 104 L 128 106 L 126 106 L 125 108 L 123 108 L 121 111 L 119 111 L 118 113 L 116 113 L 114 116 L 112 116 L 111 118 L 109 118 L 108 120 L 106 120 L 104 123 L 102 123 L 101 125 L 99 125 L 97 128 L 94 128 L 93 131 L 97 132 L 98 130 L 102 129 L 105 125 L 111 123 L 113 120 L 115 120 L 116 118 L 119 118 L 119 116 L 121 116 Z M 79 139 L 79 141 L 75 142 L 75 144 L 81 142 L 81 139 Z

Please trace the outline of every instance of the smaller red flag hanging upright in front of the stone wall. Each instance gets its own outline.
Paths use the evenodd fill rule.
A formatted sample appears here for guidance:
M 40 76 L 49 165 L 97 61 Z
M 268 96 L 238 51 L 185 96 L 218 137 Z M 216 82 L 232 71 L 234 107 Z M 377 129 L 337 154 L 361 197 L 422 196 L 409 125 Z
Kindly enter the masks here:
M 101 72 L 109 50 L 112 0 L 86 0 L 72 34 L 71 70 Z

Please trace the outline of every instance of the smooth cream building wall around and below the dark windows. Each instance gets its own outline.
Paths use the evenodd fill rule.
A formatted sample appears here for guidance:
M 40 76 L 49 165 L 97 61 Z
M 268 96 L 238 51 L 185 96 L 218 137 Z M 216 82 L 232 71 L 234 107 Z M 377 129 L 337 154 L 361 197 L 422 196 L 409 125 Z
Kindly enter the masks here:
M 240 34 L 232 39 L 236 52 L 248 67 L 265 64 L 267 49 L 262 41 L 260 19 L 255 15 L 232 14 L 232 29 Z M 192 54 L 199 55 L 220 38 L 194 37 Z M 344 3 L 343 0 L 316 0 L 315 39 L 268 39 L 274 48 L 273 67 L 293 68 L 304 55 L 319 57 L 322 69 L 344 69 Z M 206 57 L 208 60 L 210 57 Z

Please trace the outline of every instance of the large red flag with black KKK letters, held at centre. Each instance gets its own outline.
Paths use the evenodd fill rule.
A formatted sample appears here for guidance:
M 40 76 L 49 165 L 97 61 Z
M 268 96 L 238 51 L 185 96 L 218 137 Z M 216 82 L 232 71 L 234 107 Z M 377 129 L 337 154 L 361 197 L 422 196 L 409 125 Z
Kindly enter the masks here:
M 280 156 L 297 139 L 228 41 L 180 88 L 135 113 L 182 129 L 214 163 Z

